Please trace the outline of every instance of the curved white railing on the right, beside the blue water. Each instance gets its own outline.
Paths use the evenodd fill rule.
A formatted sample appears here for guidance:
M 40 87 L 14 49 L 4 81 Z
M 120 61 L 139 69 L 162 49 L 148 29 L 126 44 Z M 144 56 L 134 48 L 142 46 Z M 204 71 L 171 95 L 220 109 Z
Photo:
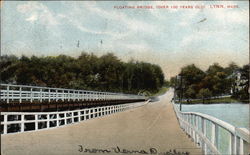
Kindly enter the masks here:
M 181 128 L 202 148 L 204 154 L 249 154 L 250 134 L 210 115 L 174 110 Z M 222 152 L 224 150 L 225 152 Z

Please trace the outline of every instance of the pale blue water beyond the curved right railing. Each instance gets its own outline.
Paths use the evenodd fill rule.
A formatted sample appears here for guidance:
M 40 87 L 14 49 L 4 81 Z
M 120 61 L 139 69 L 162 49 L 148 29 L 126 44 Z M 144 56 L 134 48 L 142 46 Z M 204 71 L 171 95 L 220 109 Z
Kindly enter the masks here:
M 178 105 L 179 106 L 179 105 Z M 244 127 L 249 130 L 249 104 L 193 104 L 182 105 L 183 112 L 200 112 L 214 116 L 220 120 L 228 122 L 236 127 Z M 207 126 L 208 127 L 208 126 Z M 211 138 L 209 129 L 207 130 L 208 138 Z M 222 154 L 228 154 L 230 134 L 224 129 L 219 128 L 219 151 Z

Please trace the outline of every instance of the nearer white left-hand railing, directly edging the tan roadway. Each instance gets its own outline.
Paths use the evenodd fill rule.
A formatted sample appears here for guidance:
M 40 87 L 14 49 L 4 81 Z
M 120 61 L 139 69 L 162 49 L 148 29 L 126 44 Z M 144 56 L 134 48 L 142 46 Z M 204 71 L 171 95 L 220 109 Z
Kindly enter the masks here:
M 59 112 L 1 112 L 1 134 L 57 128 L 140 107 L 147 103 L 148 101 Z

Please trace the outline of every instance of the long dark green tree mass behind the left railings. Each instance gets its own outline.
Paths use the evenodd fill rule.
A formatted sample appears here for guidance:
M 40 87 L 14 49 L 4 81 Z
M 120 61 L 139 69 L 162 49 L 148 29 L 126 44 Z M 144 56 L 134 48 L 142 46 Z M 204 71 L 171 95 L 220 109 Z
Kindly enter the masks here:
M 121 61 L 112 53 L 100 57 L 1 56 L 1 83 L 124 93 L 157 92 L 164 83 L 155 64 Z

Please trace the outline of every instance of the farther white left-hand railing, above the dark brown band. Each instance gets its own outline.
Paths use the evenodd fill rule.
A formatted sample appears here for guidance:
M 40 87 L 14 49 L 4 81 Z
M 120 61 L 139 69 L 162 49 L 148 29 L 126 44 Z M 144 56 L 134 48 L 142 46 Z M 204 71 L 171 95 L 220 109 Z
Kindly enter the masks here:
M 107 101 L 107 100 L 146 100 L 140 95 L 35 87 L 26 85 L 0 84 L 0 101 L 10 102 L 57 102 L 57 101 Z

